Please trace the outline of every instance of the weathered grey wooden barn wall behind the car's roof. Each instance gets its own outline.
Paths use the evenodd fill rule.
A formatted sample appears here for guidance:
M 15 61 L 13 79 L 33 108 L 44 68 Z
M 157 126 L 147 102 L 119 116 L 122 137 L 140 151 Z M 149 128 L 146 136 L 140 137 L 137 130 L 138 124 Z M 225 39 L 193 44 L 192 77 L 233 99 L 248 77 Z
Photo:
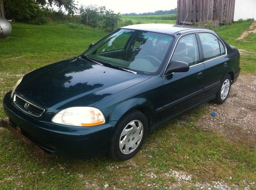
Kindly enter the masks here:
M 232 22 L 234 4 L 235 0 L 178 0 L 177 23 L 214 21 L 219 25 Z

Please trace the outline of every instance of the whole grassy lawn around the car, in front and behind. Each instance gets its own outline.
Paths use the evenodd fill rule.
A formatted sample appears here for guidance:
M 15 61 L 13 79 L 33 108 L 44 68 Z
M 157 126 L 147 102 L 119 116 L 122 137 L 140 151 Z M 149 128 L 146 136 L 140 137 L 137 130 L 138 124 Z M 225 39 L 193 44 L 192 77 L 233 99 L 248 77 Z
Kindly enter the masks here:
M 243 74 L 256 71 L 256 35 L 236 40 L 250 24 L 251 21 L 241 22 L 216 30 L 229 44 L 252 52 L 241 56 Z M 1 100 L 21 75 L 75 57 L 106 35 L 101 30 L 70 29 L 66 25 L 14 23 L 12 28 L 11 36 L 0 39 Z M 204 131 L 195 122 L 205 113 L 209 113 L 207 106 L 200 106 L 159 128 L 148 135 L 134 158 L 124 162 L 107 156 L 89 160 L 59 157 L 42 160 L 8 130 L 0 129 L 0 189 L 94 189 L 104 188 L 106 184 L 111 189 L 154 189 L 173 184 L 196 188 L 197 183 L 221 180 L 243 188 L 255 182 L 255 146 L 230 142 Z M 1 118 L 5 118 L 2 105 Z M 172 175 L 174 171 L 191 175 L 192 185 L 179 181 Z

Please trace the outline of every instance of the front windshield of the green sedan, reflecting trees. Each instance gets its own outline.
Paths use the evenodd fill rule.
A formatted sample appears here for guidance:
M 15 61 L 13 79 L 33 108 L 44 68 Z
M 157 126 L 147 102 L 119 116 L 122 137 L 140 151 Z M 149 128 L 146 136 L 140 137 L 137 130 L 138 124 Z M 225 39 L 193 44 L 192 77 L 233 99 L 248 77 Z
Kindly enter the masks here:
M 88 59 L 138 73 L 156 72 L 172 36 L 121 29 L 84 53 Z

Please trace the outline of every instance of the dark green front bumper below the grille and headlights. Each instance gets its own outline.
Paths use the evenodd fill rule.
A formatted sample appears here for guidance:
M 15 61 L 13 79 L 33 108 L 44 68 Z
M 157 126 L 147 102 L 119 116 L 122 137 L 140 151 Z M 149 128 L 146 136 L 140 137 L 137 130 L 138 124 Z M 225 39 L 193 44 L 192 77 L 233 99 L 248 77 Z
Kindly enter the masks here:
M 116 122 L 94 127 L 74 127 L 41 121 L 19 110 L 10 98 L 4 98 L 4 111 L 14 130 L 48 154 L 68 157 L 92 157 L 108 152 Z

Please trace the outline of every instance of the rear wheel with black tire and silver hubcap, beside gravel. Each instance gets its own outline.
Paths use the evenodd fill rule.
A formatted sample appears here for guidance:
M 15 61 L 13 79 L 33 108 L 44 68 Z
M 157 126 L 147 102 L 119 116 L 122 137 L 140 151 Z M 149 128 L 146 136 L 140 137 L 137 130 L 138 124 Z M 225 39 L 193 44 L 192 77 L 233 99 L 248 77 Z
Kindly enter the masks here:
M 220 89 L 213 102 L 222 104 L 226 101 L 231 88 L 231 76 L 226 74 L 221 82 Z

